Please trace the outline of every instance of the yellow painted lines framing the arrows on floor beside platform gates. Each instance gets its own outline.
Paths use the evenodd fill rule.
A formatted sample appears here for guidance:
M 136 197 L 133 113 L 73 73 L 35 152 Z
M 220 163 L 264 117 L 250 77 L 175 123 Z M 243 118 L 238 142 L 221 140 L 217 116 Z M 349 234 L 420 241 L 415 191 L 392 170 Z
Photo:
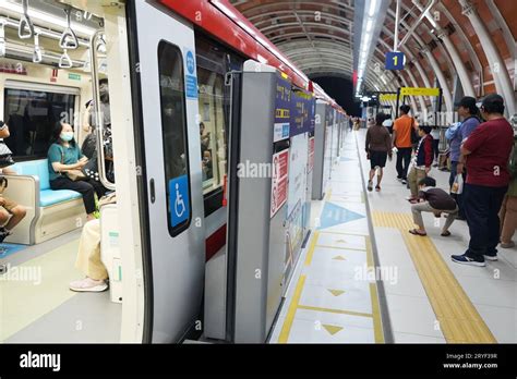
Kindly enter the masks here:
M 311 239 L 311 244 L 308 249 L 308 254 L 305 257 L 304 266 L 309 267 L 311 266 L 312 258 L 314 256 L 314 250 L 317 245 L 317 240 L 320 237 L 320 233 L 327 233 L 327 234 L 344 234 L 348 235 L 349 233 L 345 232 L 326 232 L 326 231 L 315 231 L 314 235 Z M 371 241 L 370 236 L 368 235 L 361 235 L 361 234 L 356 234 L 356 233 L 350 233 L 349 235 L 360 235 L 365 239 L 365 249 L 359 249 L 359 248 L 353 248 L 354 250 L 363 250 L 366 253 L 366 262 L 368 262 L 368 268 L 373 267 L 373 255 L 372 255 L 372 248 L 371 248 Z M 320 246 L 321 247 L 321 246 Z M 333 246 L 326 246 L 334 248 Z M 340 248 L 340 247 L 336 247 Z M 348 248 L 352 249 L 352 248 Z M 351 310 L 346 310 L 346 309 L 334 309 L 334 308 L 322 308 L 322 307 L 314 307 L 314 306 L 308 306 L 308 305 L 301 305 L 300 304 L 300 298 L 301 294 L 303 291 L 303 286 L 305 284 L 305 279 L 306 274 L 300 274 L 300 278 L 298 279 L 297 286 L 294 288 L 294 293 L 291 298 L 291 303 L 289 304 L 289 309 L 287 311 L 286 320 L 282 325 L 282 328 L 280 330 L 280 334 L 278 337 L 278 342 L 279 343 L 287 343 L 289 340 L 289 333 L 292 327 L 292 323 L 294 321 L 294 315 L 297 313 L 297 309 L 306 309 L 306 310 L 315 310 L 315 311 L 326 311 L 326 313 L 333 313 L 333 314 L 341 314 L 341 315 L 351 315 L 351 316 L 360 316 L 360 317 L 370 317 L 373 319 L 373 332 L 374 332 L 374 338 L 376 343 L 384 343 L 384 332 L 383 332 L 383 326 L 382 326 L 382 320 L 381 320 L 381 308 L 380 308 L 380 303 L 378 303 L 378 294 L 377 294 L 377 288 L 375 283 L 370 283 L 370 296 L 371 296 L 371 302 L 372 302 L 372 313 L 359 313 L 359 311 L 351 311 Z

